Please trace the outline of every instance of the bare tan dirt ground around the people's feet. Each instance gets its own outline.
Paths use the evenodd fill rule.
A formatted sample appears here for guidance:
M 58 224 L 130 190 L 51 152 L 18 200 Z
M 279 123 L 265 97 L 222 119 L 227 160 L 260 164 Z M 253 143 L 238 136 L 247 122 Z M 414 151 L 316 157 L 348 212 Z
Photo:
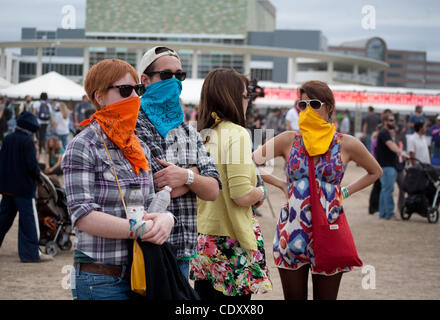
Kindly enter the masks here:
M 283 177 L 281 161 L 276 162 L 274 173 Z M 362 168 L 350 164 L 342 184 L 347 185 L 364 173 Z M 268 186 L 268 190 L 275 218 L 266 201 L 260 208 L 263 216 L 259 222 L 265 238 L 273 291 L 253 299 L 282 300 L 281 282 L 273 263 L 272 241 L 279 208 L 285 199 L 278 189 Z M 379 220 L 377 213 L 368 214 L 370 190 L 371 187 L 344 203 L 364 267 L 343 275 L 338 299 L 439 299 L 440 223 L 429 224 L 426 218 L 418 215 L 412 216 L 410 221 Z M 17 253 L 17 227 L 18 215 L 0 248 L 0 299 L 71 299 L 72 251 L 61 251 L 51 262 L 21 263 Z M 311 285 L 309 277 L 309 299 L 312 298 Z

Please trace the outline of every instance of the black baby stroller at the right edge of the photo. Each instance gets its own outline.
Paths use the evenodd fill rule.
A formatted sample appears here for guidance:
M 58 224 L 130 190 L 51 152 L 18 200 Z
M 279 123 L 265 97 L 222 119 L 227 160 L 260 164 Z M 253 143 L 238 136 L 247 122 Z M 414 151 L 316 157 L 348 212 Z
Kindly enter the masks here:
M 405 203 L 400 210 L 403 220 L 409 220 L 413 213 L 437 223 L 439 218 L 440 168 L 415 160 L 417 165 L 405 169 L 403 190 L 407 193 Z

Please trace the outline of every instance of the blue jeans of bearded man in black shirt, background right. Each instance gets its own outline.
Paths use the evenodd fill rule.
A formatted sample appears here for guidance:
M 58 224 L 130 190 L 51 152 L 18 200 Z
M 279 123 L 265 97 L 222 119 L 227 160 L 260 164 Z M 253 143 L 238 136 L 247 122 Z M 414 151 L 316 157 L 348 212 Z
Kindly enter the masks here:
M 379 196 L 379 218 L 390 219 L 394 217 L 394 183 L 397 178 L 397 170 L 394 167 L 383 167 L 380 178 L 381 189 Z

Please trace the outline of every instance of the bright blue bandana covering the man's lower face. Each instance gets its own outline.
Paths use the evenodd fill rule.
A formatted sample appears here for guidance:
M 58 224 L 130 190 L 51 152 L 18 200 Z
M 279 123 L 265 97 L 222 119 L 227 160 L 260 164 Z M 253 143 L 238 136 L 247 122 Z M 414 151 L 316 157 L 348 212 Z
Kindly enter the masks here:
M 177 128 L 183 122 L 181 92 L 182 82 L 171 78 L 150 84 L 141 97 L 142 110 L 164 138 L 167 137 L 168 131 Z

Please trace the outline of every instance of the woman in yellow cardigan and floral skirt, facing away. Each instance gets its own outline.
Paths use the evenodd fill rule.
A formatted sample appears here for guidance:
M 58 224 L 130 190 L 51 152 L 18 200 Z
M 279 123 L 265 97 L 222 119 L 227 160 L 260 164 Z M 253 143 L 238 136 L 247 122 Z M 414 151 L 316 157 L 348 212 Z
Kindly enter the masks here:
M 202 87 L 198 130 L 223 184 L 216 201 L 197 200 L 198 255 L 191 261 L 191 278 L 202 300 L 246 301 L 272 290 L 261 228 L 252 213 L 267 192 L 256 187 L 245 129 L 248 84 L 236 71 L 219 68 Z

